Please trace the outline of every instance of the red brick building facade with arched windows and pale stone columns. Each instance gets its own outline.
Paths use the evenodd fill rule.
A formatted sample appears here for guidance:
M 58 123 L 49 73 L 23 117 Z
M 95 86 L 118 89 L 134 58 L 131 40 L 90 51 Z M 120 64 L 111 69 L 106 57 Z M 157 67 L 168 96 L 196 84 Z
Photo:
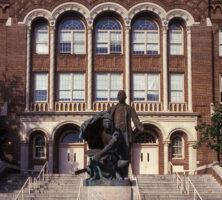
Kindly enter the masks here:
M 192 146 L 222 101 L 221 9 L 213 0 L 0 0 L 5 154 L 24 170 L 46 160 L 51 172 L 84 167 L 81 124 L 124 89 L 145 127 L 134 129 L 135 173 L 216 160 Z

